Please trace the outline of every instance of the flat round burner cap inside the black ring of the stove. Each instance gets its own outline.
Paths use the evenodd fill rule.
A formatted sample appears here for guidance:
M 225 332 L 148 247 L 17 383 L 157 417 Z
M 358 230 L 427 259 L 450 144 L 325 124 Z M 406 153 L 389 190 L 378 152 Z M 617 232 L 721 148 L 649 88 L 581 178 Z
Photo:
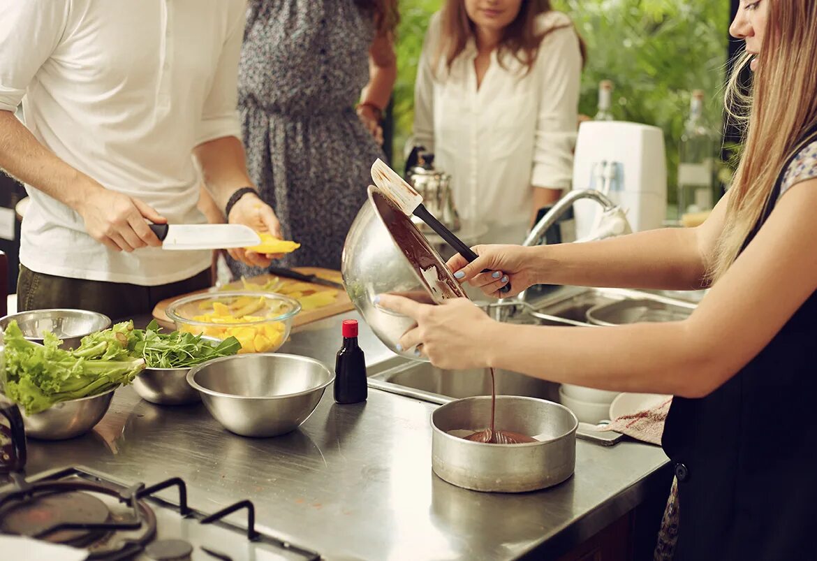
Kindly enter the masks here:
M 18 536 L 39 536 L 51 527 L 66 523 L 96 525 L 108 522 L 110 510 L 96 496 L 79 491 L 42 495 L 28 502 L 0 510 L 0 532 Z M 84 547 L 100 541 L 108 532 L 71 529 L 50 532 L 44 539 L 51 543 Z

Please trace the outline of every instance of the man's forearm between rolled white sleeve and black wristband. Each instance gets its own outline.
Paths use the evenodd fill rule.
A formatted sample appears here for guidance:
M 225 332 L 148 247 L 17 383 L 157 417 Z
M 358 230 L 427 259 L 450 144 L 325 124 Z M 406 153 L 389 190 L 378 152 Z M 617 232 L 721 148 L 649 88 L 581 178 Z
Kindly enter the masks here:
M 221 137 L 204 142 L 194 150 L 202 168 L 204 184 L 224 211 L 227 201 L 241 187 L 253 186 L 247 173 L 244 147 L 236 137 Z

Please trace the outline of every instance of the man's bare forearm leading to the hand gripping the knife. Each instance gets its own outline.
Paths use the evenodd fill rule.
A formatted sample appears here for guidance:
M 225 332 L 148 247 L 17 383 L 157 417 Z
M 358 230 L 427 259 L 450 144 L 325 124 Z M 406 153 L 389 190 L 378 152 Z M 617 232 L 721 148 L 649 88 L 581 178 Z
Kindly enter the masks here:
M 100 189 L 99 183 L 54 155 L 11 113 L 0 110 L 0 169 L 70 208 Z

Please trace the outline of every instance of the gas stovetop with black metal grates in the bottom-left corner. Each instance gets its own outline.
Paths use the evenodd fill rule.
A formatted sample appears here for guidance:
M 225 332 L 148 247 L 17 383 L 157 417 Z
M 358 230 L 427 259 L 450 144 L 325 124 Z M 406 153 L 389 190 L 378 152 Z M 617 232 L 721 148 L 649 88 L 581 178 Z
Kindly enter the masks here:
M 156 495 L 171 489 L 176 491 L 175 503 Z M 246 527 L 224 519 L 238 511 L 246 511 Z M 181 478 L 126 487 L 80 468 L 29 479 L 11 473 L 11 483 L 0 484 L 0 534 L 74 545 L 88 550 L 89 561 L 189 561 L 194 555 L 219 561 L 321 559 L 315 551 L 257 532 L 250 500 L 205 514 L 187 505 Z M 2 552 L 0 559 L 5 561 Z

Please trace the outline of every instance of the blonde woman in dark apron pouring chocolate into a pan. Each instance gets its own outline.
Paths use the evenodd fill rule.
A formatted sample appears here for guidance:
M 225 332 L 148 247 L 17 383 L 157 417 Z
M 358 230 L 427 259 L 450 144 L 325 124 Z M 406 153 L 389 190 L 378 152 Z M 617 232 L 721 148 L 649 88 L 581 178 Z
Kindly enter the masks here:
M 468 303 L 383 295 L 417 319 L 401 341 L 446 369 L 675 396 L 676 561 L 817 559 L 817 4 L 741 0 L 731 33 L 754 73 L 734 186 L 694 229 L 590 244 L 485 246 L 455 276 L 497 294 L 537 282 L 712 289 L 689 319 L 613 328 L 498 324 Z M 736 74 L 737 75 L 737 74 Z M 734 81 L 733 81 L 734 84 Z M 737 104 L 743 105 L 743 104 Z M 734 96 L 730 100 L 734 108 Z

